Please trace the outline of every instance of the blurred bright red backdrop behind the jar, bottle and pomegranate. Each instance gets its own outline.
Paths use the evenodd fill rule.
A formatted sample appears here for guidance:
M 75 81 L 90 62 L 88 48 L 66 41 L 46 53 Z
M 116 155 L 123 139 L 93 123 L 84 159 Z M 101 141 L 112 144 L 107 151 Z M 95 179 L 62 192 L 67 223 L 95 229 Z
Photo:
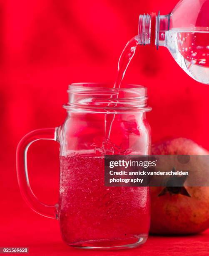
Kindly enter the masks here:
M 62 124 L 66 115 L 62 104 L 67 101 L 69 83 L 114 82 L 119 55 L 137 34 L 139 14 L 158 10 L 167 14 L 176 3 L 177 0 L 0 3 L 0 246 L 29 246 L 34 253 L 48 246 L 44 255 L 53 248 L 54 255 L 70 252 L 61 242 L 58 222 L 32 212 L 20 196 L 15 172 L 17 143 L 31 130 Z M 166 48 L 157 51 L 139 46 L 125 82 L 148 87 L 153 142 L 182 136 L 209 149 L 209 86 L 184 73 Z M 57 201 L 58 149 L 55 142 L 42 141 L 32 145 L 28 154 L 32 188 L 46 203 Z M 161 243 L 150 239 L 152 242 L 148 240 L 145 246 Z M 203 241 L 204 234 L 195 239 Z M 168 240 L 163 244 L 169 248 Z M 174 249 L 170 248 L 170 253 Z

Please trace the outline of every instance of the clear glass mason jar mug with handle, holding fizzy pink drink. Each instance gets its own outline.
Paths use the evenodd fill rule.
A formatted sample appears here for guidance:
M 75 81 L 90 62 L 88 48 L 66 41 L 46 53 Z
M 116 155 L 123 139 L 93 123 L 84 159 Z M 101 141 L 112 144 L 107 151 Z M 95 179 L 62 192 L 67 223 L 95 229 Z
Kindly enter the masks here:
M 57 218 L 63 240 L 82 248 L 133 248 L 147 240 L 148 187 L 105 187 L 104 155 L 150 153 L 147 89 L 129 85 L 71 84 L 62 126 L 28 133 L 17 147 L 23 197 L 41 215 Z M 60 198 L 37 200 L 27 175 L 27 149 L 39 139 L 60 143 Z

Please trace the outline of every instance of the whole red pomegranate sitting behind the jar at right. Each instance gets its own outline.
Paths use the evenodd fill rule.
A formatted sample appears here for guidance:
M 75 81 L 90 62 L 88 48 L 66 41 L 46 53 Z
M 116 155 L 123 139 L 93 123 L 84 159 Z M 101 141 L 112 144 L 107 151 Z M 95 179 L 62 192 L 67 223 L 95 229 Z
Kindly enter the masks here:
M 153 155 L 208 155 L 186 138 L 152 146 Z M 200 170 L 201 172 L 201 170 Z M 151 187 L 151 228 L 154 234 L 193 234 L 209 228 L 209 187 Z

